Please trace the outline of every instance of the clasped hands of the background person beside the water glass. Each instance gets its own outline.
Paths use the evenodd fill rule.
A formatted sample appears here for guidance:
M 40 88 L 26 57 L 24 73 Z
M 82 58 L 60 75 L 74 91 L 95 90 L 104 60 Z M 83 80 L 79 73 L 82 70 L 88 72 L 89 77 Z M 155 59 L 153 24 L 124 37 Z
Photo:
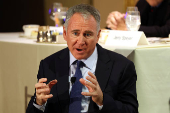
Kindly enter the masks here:
M 127 30 L 124 17 L 125 14 L 118 11 L 111 12 L 107 17 L 107 27 L 112 30 Z

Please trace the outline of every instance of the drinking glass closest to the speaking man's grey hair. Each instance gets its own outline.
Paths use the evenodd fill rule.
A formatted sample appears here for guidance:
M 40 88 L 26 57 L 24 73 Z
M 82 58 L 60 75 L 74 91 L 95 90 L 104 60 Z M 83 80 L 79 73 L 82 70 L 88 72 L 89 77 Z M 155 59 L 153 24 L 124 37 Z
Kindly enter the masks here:
M 55 12 L 55 26 L 56 27 L 63 26 L 63 24 L 65 23 L 67 10 L 68 10 L 67 7 L 57 8 L 57 11 Z

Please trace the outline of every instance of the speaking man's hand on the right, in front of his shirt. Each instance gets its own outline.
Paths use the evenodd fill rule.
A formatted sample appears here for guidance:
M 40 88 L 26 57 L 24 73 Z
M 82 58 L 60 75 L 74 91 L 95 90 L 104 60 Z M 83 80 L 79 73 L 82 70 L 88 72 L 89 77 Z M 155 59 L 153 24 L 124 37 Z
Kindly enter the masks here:
M 91 96 L 92 100 L 99 106 L 103 105 L 103 92 L 99 86 L 99 83 L 96 79 L 96 76 L 88 72 L 90 76 L 87 76 L 86 79 L 90 82 L 84 80 L 83 78 L 80 79 L 80 82 L 85 85 L 89 92 L 82 92 L 82 95 L 84 96 Z

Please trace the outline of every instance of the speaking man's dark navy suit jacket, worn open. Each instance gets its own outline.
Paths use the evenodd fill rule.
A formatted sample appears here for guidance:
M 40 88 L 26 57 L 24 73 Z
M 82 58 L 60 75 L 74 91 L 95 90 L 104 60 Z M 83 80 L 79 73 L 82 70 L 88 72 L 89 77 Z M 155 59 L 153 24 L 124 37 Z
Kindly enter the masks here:
M 96 77 L 103 91 L 103 108 L 99 111 L 90 99 L 88 113 L 137 113 L 137 75 L 134 64 L 117 53 L 103 49 L 97 44 L 98 60 Z M 58 82 L 51 89 L 53 97 L 48 99 L 45 113 L 68 113 L 69 108 L 69 49 L 63 49 L 41 61 L 37 78 Z M 33 106 L 31 98 L 27 113 L 41 113 Z

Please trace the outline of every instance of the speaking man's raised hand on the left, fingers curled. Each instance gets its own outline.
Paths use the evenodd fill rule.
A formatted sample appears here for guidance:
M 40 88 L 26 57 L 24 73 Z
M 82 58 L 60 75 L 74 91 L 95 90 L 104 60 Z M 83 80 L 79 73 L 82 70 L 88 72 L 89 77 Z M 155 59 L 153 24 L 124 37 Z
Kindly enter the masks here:
M 38 83 L 35 84 L 36 88 L 36 103 L 38 105 L 43 105 L 46 103 L 48 98 L 53 97 L 50 94 L 51 88 L 57 83 L 57 80 L 52 80 L 48 84 L 44 83 L 47 81 L 47 78 L 39 79 Z

